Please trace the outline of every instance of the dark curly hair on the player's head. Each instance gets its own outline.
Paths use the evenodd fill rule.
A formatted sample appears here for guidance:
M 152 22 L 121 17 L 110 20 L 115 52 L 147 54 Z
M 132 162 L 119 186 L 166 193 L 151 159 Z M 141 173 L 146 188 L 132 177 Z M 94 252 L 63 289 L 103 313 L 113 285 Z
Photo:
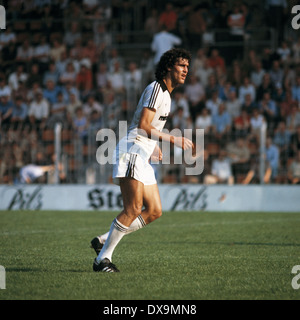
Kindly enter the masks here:
M 165 78 L 167 73 L 169 72 L 168 69 L 173 68 L 175 63 L 178 61 L 179 58 L 187 59 L 189 63 L 191 62 L 191 53 L 185 49 L 175 48 L 166 51 L 160 58 L 156 70 L 155 70 L 155 78 L 156 80 L 162 80 Z

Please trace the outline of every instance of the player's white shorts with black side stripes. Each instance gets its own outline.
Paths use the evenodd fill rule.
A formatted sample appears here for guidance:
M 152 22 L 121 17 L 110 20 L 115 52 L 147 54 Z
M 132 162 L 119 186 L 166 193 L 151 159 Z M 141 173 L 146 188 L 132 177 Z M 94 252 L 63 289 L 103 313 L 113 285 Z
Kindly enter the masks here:
M 121 153 L 113 166 L 113 181 L 119 185 L 119 178 L 131 177 L 144 185 L 157 184 L 154 170 L 148 160 L 137 153 Z

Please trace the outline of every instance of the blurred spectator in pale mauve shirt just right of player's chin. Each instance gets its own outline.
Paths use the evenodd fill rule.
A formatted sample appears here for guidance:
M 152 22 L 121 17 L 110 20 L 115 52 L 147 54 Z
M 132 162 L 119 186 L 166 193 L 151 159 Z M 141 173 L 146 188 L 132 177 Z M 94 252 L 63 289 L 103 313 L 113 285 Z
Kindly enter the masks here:
M 185 95 L 188 99 L 190 115 L 195 120 L 196 114 L 204 107 L 205 90 L 201 82 L 193 74 L 188 78 L 185 86 Z

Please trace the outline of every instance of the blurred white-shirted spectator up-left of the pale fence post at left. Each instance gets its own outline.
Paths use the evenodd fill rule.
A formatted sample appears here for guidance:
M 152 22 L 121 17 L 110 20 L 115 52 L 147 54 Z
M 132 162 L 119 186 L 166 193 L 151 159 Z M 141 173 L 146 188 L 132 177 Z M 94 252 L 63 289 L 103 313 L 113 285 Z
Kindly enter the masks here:
M 34 100 L 29 105 L 28 116 L 33 128 L 38 130 L 45 128 L 49 116 L 49 102 L 40 89 L 36 91 Z

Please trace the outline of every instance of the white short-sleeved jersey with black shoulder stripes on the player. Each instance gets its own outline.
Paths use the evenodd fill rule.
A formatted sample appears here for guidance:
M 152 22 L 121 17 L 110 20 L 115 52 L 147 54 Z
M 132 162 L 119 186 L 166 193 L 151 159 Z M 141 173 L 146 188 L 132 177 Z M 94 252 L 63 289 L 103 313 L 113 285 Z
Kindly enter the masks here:
M 151 125 L 159 130 L 165 126 L 171 109 L 171 96 L 163 81 L 153 81 L 144 90 L 127 135 L 120 141 L 117 149 L 129 153 L 137 153 L 143 159 L 149 159 L 157 141 L 138 134 L 138 124 L 143 108 L 155 110 Z

